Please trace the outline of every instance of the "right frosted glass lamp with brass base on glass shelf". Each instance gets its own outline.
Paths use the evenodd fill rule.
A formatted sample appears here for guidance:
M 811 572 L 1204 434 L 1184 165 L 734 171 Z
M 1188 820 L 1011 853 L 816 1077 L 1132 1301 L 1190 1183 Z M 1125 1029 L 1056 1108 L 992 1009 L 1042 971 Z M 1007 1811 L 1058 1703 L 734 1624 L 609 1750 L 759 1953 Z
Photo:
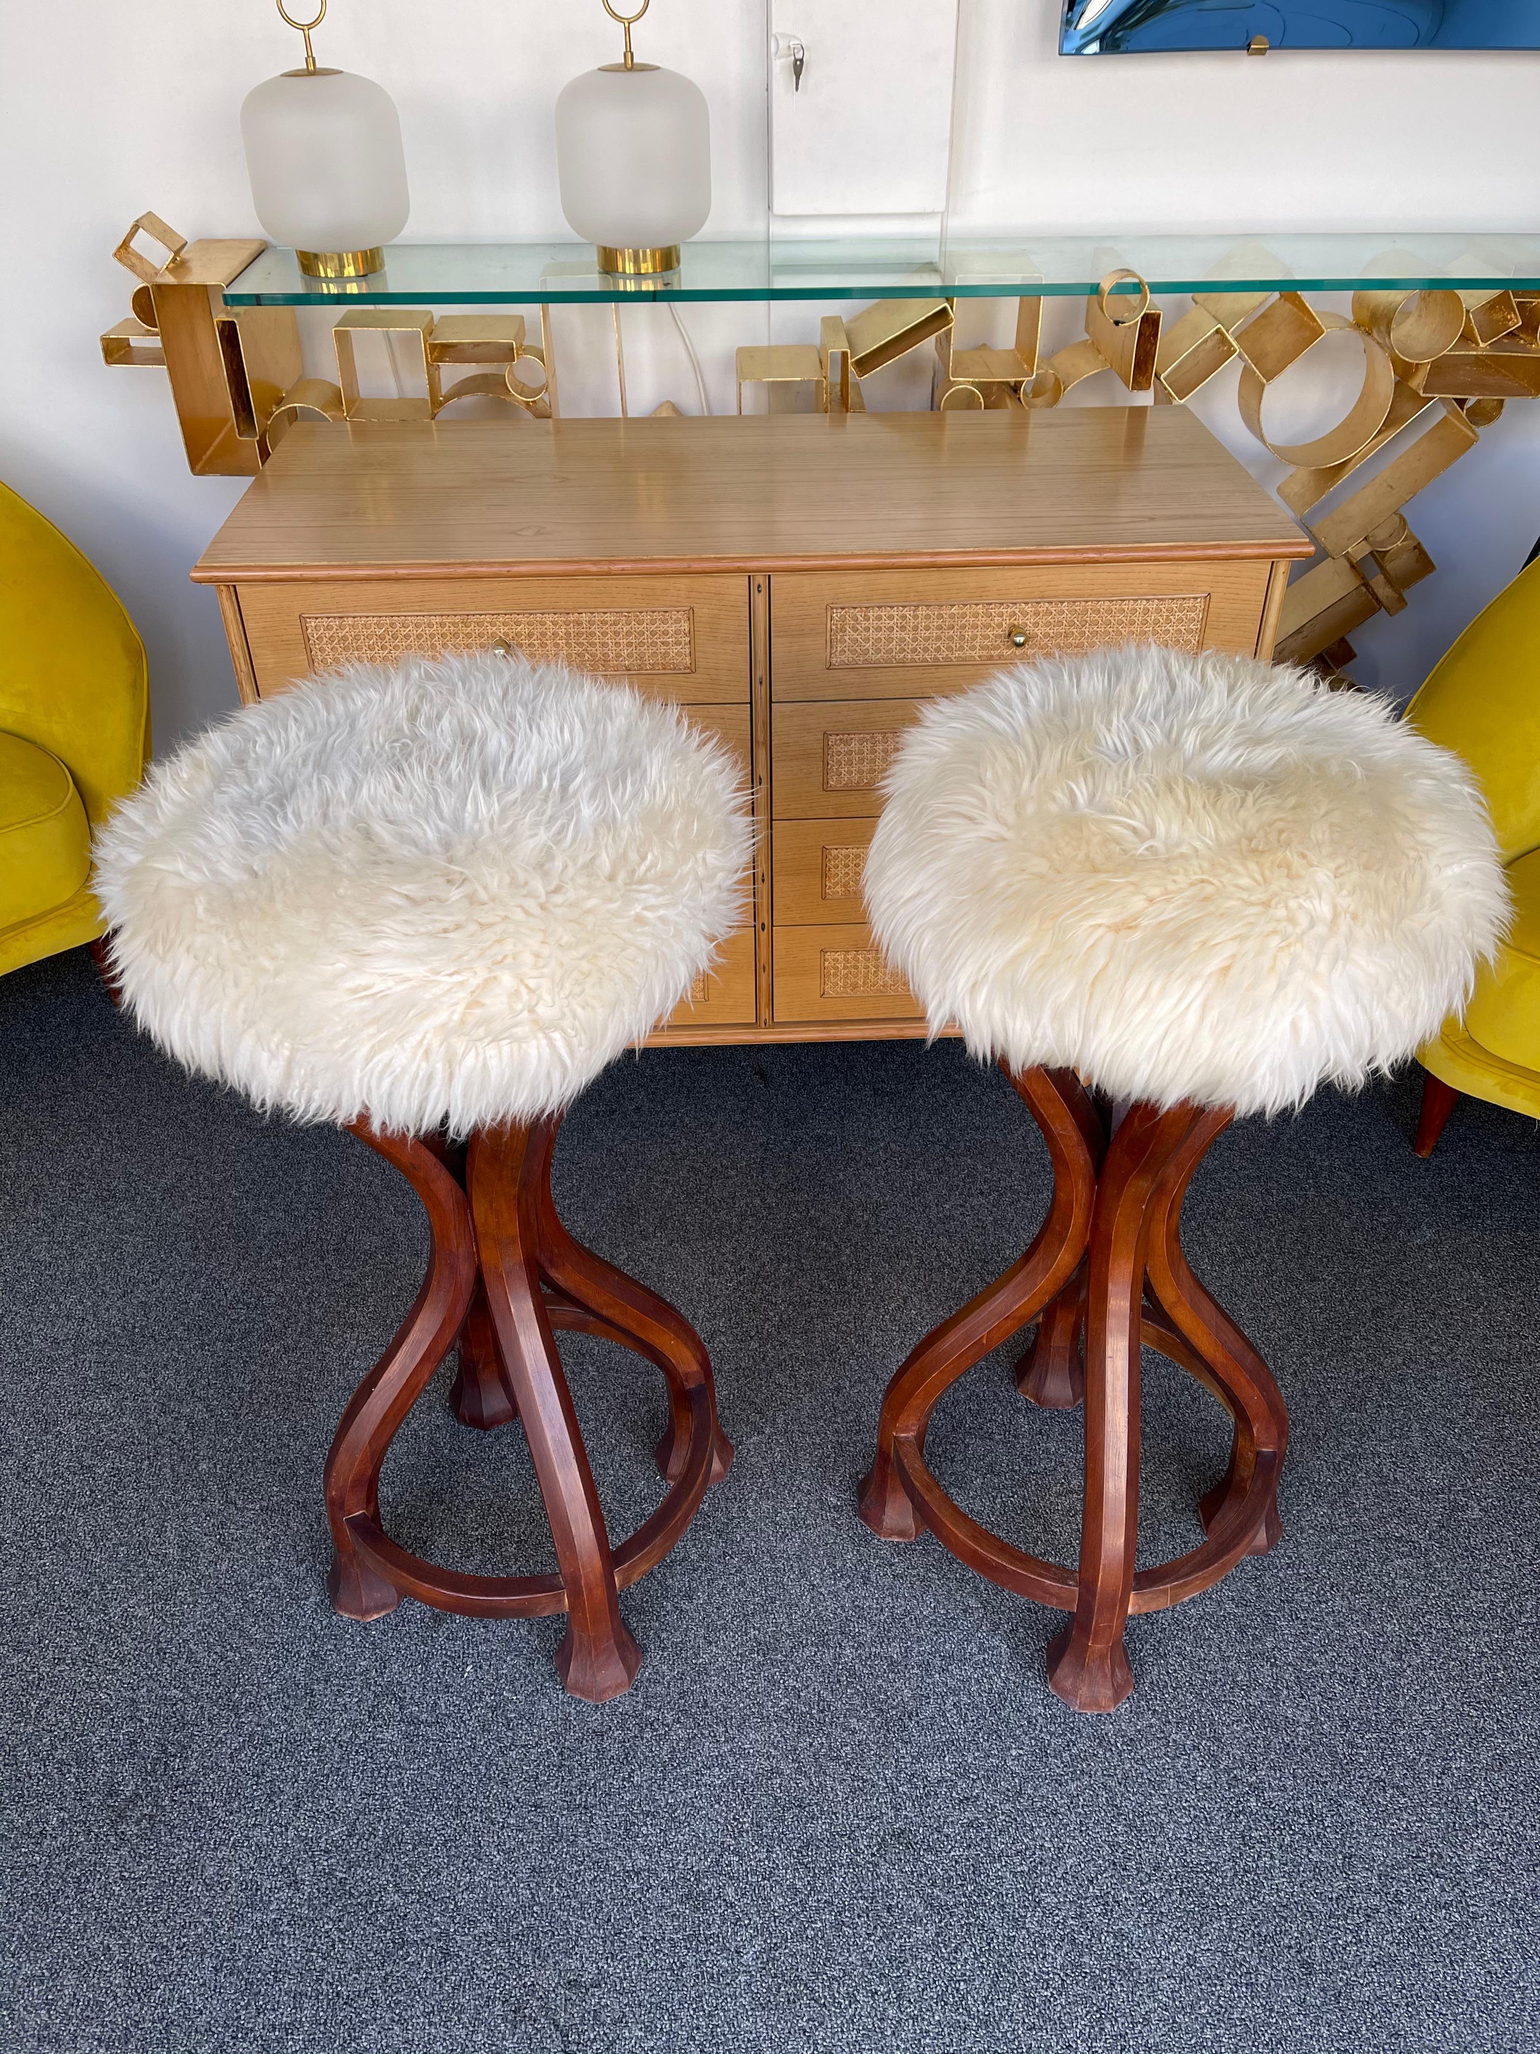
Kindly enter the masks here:
M 606 64 L 556 99 L 567 226 L 604 271 L 671 271 L 710 214 L 710 115 L 682 72 Z

